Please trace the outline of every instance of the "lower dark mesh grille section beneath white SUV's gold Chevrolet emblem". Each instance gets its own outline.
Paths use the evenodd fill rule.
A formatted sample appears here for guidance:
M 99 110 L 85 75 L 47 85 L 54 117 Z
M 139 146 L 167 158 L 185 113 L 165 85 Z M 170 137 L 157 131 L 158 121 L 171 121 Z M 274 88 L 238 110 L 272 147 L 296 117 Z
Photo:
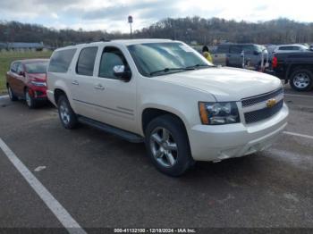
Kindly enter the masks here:
M 278 113 L 282 109 L 282 107 L 283 100 L 279 101 L 272 108 L 266 107 L 264 109 L 260 109 L 250 113 L 244 113 L 244 118 L 246 120 L 246 123 L 262 121 L 273 116 L 275 113 Z

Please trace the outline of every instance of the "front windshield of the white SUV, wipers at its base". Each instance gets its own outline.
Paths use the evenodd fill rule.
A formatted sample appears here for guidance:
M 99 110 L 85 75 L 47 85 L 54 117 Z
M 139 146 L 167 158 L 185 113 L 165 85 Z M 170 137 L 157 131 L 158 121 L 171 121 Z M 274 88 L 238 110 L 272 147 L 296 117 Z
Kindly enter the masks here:
M 147 77 L 213 66 L 182 43 L 147 43 L 128 46 L 140 74 Z

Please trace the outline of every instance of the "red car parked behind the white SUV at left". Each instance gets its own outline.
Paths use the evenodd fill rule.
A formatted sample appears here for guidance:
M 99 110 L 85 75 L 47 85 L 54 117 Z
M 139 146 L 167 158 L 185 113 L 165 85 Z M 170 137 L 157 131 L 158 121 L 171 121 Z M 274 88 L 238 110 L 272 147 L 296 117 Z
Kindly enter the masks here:
M 30 108 L 47 101 L 47 59 L 28 59 L 11 63 L 6 72 L 6 87 L 10 99 L 26 100 Z

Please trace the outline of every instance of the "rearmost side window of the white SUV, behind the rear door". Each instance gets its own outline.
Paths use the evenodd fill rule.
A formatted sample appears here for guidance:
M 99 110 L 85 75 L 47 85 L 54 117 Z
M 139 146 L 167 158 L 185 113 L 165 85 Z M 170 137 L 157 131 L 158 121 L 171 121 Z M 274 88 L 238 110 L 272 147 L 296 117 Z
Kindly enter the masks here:
M 67 72 L 75 52 L 76 49 L 56 51 L 50 59 L 48 71 L 62 73 Z

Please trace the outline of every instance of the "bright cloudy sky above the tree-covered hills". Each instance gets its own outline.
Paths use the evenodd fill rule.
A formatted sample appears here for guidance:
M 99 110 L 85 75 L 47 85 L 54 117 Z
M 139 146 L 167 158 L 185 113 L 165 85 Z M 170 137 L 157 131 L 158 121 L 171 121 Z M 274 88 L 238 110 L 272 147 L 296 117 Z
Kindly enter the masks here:
M 38 23 L 55 29 L 141 29 L 166 17 L 219 17 L 268 21 L 286 17 L 313 21 L 309 0 L 0 0 L 0 21 Z

